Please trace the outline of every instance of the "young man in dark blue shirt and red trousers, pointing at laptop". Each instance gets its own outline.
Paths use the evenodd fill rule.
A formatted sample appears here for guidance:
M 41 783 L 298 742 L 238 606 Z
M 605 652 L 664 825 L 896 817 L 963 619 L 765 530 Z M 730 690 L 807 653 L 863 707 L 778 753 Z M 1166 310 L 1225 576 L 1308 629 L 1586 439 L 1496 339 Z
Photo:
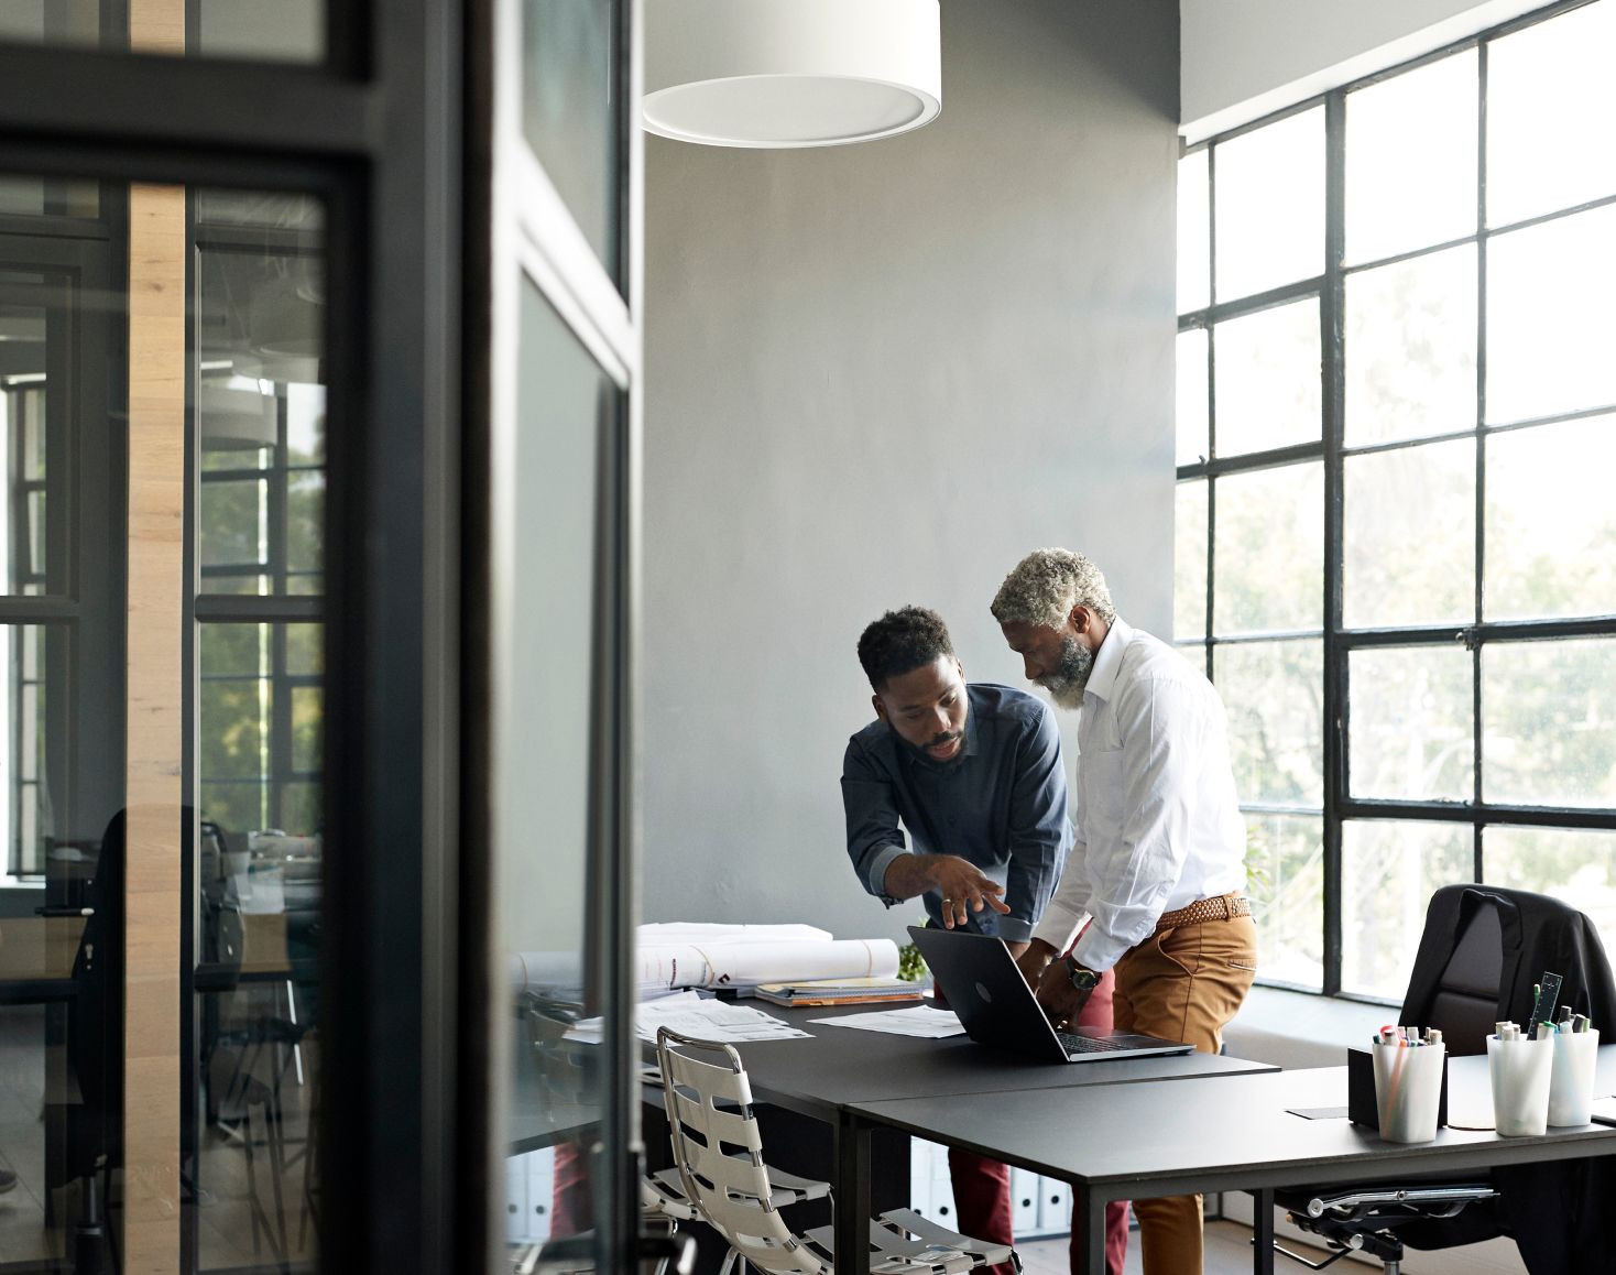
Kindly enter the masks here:
M 887 907 L 920 895 L 931 924 L 995 934 L 1020 957 L 1071 848 L 1055 714 L 1012 687 L 966 682 L 947 627 L 924 608 L 865 629 L 858 661 L 876 721 L 842 758 L 853 871 Z M 1110 1026 L 1109 983 L 1079 1023 Z M 1010 1168 L 962 1151 L 949 1165 L 960 1230 L 1012 1243 Z M 1110 1275 L 1122 1273 L 1126 1244 L 1128 1210 L 1117 1204 L 1107 1209 Z

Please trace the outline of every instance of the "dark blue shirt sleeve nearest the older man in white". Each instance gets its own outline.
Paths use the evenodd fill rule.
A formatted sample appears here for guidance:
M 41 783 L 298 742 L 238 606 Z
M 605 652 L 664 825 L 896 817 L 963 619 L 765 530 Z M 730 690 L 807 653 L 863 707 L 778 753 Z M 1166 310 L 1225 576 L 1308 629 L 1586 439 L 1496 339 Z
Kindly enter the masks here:
M 1041 713 L 1021 738 L 1015 785 L 1010 790 L 1010 863 L 1005 876 L 1008 915 L 999 918 L 999 937 L 1026 942 L 1060 881 L 1071 850 L 1067 814 L 1067 771 L 1060 730 L 1052 713 Z

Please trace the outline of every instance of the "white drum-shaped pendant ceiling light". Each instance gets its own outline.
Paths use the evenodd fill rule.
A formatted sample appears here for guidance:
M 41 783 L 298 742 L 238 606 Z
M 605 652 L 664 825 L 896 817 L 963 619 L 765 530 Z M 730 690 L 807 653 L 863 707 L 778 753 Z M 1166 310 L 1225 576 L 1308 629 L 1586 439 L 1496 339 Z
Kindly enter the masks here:
M 937 0 L 646 0 L 645 126 L 703 145 L 847 145 L 942 110 Z

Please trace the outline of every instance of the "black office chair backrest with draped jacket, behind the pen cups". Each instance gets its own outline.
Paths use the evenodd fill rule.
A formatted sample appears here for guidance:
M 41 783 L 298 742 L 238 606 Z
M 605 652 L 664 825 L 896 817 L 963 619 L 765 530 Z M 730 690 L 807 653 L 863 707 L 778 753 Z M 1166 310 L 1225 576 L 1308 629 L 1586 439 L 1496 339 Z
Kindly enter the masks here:
M 1564 979 L 1559 1004 L 1611 1021 L 1610 963 L 1587 916 L 1529 890 L 1443 886 L 1425 911 L 1401 1020 L 1440 1028 L 1451 1055 L 1485 1054 L 1498 1020 L 1530 1016 L 1543 970 Z

